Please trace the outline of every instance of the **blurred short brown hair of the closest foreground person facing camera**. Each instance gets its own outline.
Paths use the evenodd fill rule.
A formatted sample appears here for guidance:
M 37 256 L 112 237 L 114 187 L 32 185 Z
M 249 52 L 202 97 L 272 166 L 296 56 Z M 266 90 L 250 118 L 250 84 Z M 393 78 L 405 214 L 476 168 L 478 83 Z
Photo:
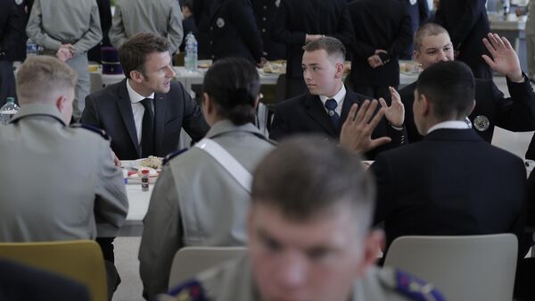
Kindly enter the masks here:
M 302 136 L 284 140 L 259 163 L 251 198 L 253 206 L 271 206 L 296 222 L 347 204 L 356 214 L 358 230 L 367 233 L 374 189 L 357 154 L 319 137 Z

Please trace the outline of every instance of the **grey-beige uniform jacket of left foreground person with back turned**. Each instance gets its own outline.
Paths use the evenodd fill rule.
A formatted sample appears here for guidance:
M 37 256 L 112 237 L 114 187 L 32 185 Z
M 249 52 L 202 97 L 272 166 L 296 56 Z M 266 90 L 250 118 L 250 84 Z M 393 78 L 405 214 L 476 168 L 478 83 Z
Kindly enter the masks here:
M 110 141 L 61 118 L 53 105 L 23 105 L 0 126 L 0 241 L 112 237 L 125 221 Z

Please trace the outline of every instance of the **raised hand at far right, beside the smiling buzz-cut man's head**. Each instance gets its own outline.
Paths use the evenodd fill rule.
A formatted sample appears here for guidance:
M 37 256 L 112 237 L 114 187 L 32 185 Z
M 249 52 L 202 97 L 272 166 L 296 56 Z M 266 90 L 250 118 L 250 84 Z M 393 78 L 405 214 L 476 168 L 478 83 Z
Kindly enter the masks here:
M 493 71 L 504 73 L 512 81 L 522 81 L 522 68 L 518 61 L 518 55 L 507 38 L 500 38 L 496 33 L 489 33 L 487 38 L 483 38 L 483 44 L 489 50 L 492 58 L 487 54 L 482 54 L 481 57 Z

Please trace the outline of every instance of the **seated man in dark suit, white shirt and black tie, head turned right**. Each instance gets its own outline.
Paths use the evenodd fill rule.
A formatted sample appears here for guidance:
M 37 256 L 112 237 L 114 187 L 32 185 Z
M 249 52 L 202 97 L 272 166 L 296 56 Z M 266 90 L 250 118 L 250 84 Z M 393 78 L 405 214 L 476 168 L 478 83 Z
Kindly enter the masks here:
M 137 34 L 119 47 L 119 60 L 127 79 L 87 96 L 81 121 L 108 132 L 120 160 L 176 151 L 182 127 L 194 141 L 204 136 L 209 126 L 201 109 L 171 81 L 166 38 Z

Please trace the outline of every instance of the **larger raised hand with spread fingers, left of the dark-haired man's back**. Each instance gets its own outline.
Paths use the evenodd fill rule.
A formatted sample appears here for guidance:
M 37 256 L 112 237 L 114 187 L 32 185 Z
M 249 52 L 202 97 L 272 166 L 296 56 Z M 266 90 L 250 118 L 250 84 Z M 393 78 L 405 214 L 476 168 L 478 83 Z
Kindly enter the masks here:
M 372 132 L 384 115 L 383 108 L 374 115 L 376 107 L 376 99 L 372 102 L 366 99 L 360 110 L 358 110 L 357 104 L 351 106 L 348 118 L 343 122 L 340 133 L 342 146 L 358 153 L 364 153 L 391 141 L 391 138 L 388 137 L 372 139 Z

